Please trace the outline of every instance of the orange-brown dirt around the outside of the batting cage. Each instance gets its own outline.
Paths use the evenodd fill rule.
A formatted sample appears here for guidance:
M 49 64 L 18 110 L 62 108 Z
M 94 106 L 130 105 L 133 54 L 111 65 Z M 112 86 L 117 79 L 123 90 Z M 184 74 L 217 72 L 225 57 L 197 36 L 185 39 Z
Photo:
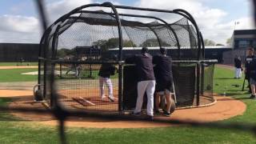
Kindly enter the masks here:
M 33 102 L 31 90 L 0 90 L 0 97 L 13 98 L 9 106 L 26 106 L 30 108 L 42 108 L 43 106 Z M 214 122 L 237 115 L 241 115 L 246 110 L 246 105 L 238 100 L 229 97 L 215 96 L 217 102 L 213 106 L 175 110 L 170 118 L 156 116 L 155 118 L 166 118 L 170 120 L 182 120 L 193 122 Z M 13 113 L 15 117 L 38 122 L 43 125 L 56 126 L 58 122 L 49 114 L 25 114 Z M 174 126 L 170 123 L 158 122 L 134 122 L 121 120 L 102 120 L 96 118 L 70 118 L 66 126 L 72 127 L 94 127 L 94 128 L 142 128 L 142 127 L 163 127 Z

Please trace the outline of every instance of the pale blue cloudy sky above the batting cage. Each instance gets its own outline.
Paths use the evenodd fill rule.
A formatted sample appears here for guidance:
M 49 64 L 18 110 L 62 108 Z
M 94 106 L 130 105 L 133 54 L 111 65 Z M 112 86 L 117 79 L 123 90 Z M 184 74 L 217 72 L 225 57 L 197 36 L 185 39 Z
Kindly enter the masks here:
M 78 6 L 102 0 L 45 0 L 49 24 Z M 156 9 L 184 9 L 190 12 L 204 38 L 226 44 L 235 30 L 254 29 L 251 0 L 110 0 L 114 4 Z M 122 10 L 122 13 L 134 13 Z M 173 22 L 170 15 L 157 15 Z M 34 0 L 0 0 L 0 42 L 38 43 L 42 26 Z M 235 25 L 235 22 L 238 24 Z

